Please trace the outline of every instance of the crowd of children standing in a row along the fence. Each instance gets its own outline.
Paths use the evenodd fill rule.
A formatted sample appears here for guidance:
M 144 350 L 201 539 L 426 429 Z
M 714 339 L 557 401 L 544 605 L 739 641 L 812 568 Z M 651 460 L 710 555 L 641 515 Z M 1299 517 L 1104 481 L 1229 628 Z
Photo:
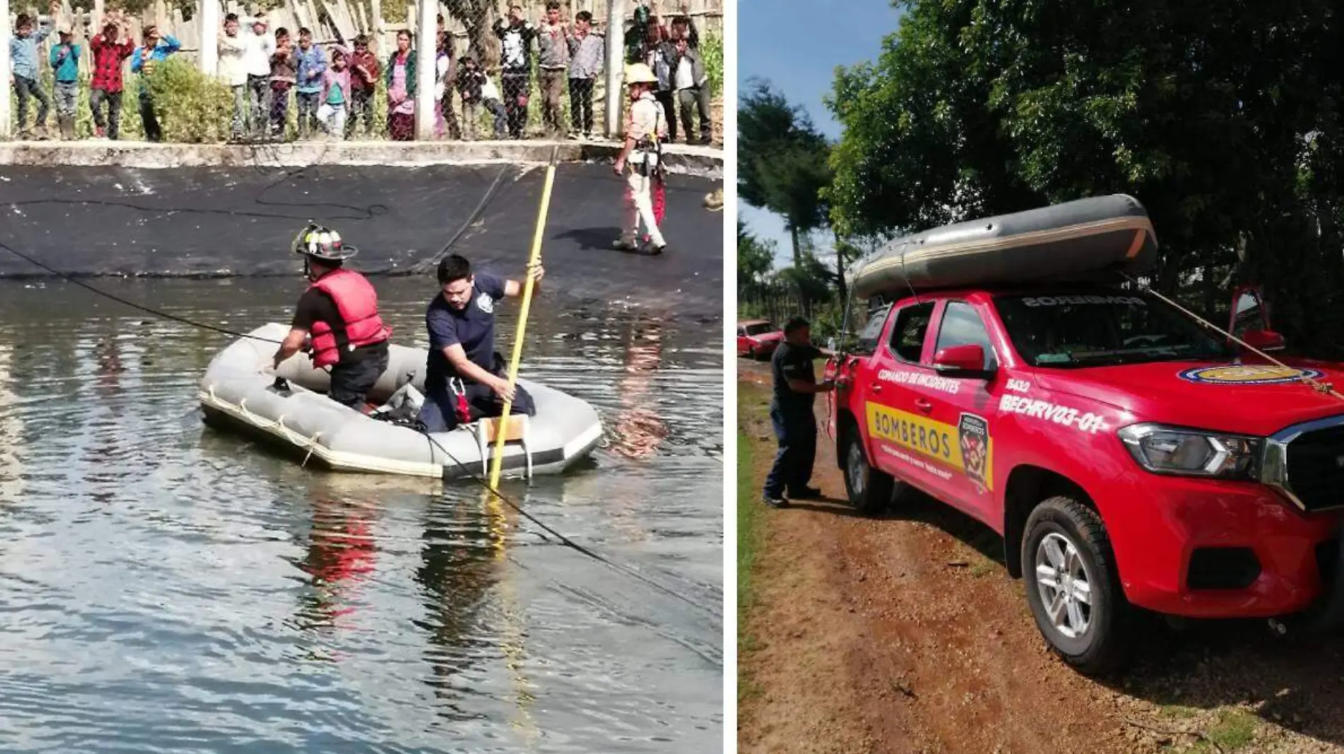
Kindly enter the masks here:
M 51 136 L 47 129 L 51 101 L 43 91 L 38 60 L 39 46 L 51 35 L 59 15 L 55 1 L 50 12 L 50 16 L 36 19 L 19 13 L 9 43 L 20 138 Z M 649 62 L 659 75 L 656 95 L 668 114 L 672 138 L 676 129 L 673 97 L 679 95 L 684 130 L 689 133 L 691 107 L 700 105 L 700 130 L 708 140 L 708 99 L 699 94 L 704 71 L 695 50 L 695 28 L 684 16 L 673 20 L 671 31 L 656 21 L 652 27 L 655 31 L 650 31 L 640 58 Z M 82 46 L 73 42 L 73 31 L 69 24 L 62 25 L 58 30 L 59 42 L 51 46 L 47 56 L 55 86 L 56 126 L 65 140 L 75 138 L 79 60 L 83 55 Z M 546 136 L 591 137 L 593 91 L 605 64 L 603 38 L 594 28 L 591 13 L 575 13 L 571 24 L 560 19 L 560 4 L 551 0 L 543 21 L 534 24 L 523 20 L 523 8 L 513 4 L 507 19 L 500 19 L 493 31 L 501 40 L 497 79 L 474 56 L 454 55 L 452 36 L 439 15 L 434 75 L 435 137 L 476 140 L 482 131 L 481 117 L 487 115 L 495 138 L 524 138 L 534 40 Z M 237 13 L 224 17 L 218 35 L 216 75 L 233 91 L 233 140 L 270 141 L 290 136 L 306 140 L 320 134 L 329 138 L 374 138 L 379 134 L 396 141 L 414 138 L 418 79 L 411 32 L 399 31 L 395 48 L 386 58 L 370 50 L 366 35 L 355 38 L 353 50 L 333 44 L 325 51 L 313 40 L 310 30 L 298 28 L 296 36 L 284 27 L 270 32 L 263 13 L 249 19 L 246 27 Z M 103 17 L 101 31 L 87 44 L 91 59 L 89 107 L 94 136 L 120 137 L 122 71 L 129 59 L 130 71 L 140 75 L 136 97 L 145 138 L 161 141 L 160 113 L 145 78 L 156 63 L 176 54 L 180 43 L 171 35 L 161 35 L 157 27 L 148 25 L 140 44 L 136 44 L 128 19 L 113 11 Z M 374 93 L 379 80 L 387 97 L 387 119 L 383 123 L 374 122 Z M 566 89 L 570 101 L 567 130 L 562 102 Z M 454 94 L 461 103 L 461 122 L 453 107 Z M 36 117 L 30 127 L 31 101 L 36 102 Z M 288 134 L 292 106 L 297 118 L 294 133 Z

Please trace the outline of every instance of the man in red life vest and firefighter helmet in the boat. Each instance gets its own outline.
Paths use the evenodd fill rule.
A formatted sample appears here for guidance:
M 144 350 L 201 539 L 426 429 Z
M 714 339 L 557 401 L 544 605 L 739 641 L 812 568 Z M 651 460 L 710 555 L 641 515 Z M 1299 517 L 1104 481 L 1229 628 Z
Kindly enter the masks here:
M 341 263 L 359 254 L 343 246 L 340 233 L 309 224 L 294 237 L 312 282 L 298 298 L 289 335 L 276 352 L 273 368 L 308 345 L 313 366 L 331 366 L 327 397 L 364 411 L 364 398 L 387 369 L 387 338 L 392 330 L 378 315 L 378 292 L 368 279 Z

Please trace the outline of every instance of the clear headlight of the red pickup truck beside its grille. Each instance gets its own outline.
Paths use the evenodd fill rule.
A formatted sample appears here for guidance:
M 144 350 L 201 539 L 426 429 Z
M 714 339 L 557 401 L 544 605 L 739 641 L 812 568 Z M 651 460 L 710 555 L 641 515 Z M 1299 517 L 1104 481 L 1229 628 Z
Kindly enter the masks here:
M 1254 479 L 1263 439 L 1164 427 L 1132 424 L 1120 439 L 1138 466 L 1153 474 Z

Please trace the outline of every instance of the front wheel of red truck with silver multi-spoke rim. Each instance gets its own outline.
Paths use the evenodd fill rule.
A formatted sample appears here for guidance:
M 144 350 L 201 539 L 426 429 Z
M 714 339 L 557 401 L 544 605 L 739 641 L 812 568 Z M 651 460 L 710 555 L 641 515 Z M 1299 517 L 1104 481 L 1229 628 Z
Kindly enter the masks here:
M 1051 649 L 1085 675 L 1113 671 L 1129 653 L 1132 609 L 1114 563 L 1101 517 L 1078 500 L 1050 498 L 1027 518 L 1031 614 Z

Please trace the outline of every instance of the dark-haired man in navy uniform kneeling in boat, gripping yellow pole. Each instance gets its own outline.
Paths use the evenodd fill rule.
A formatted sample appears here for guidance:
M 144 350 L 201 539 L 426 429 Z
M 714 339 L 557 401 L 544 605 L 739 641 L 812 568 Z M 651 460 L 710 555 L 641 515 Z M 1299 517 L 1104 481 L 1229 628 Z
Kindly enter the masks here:
M 534 290 L 544 271 L 531 270 Z M 439 294 L 425 311 L 429 329 L 429 362 L 425 365 L 425 407 L 419 420 L 429 432 L 446 432 L 462 421 L 500 416 L 504 400 L 509 413 L 534 416 L 532 396 L 511 388 L 504 358 L 495 353 L 495 302 L 523 294 L 523 283 L 489 272 L 472 274 L 472 264 L 454 254 L 438 264 Z M 458 409 L 465 397 L 466 412 Z

